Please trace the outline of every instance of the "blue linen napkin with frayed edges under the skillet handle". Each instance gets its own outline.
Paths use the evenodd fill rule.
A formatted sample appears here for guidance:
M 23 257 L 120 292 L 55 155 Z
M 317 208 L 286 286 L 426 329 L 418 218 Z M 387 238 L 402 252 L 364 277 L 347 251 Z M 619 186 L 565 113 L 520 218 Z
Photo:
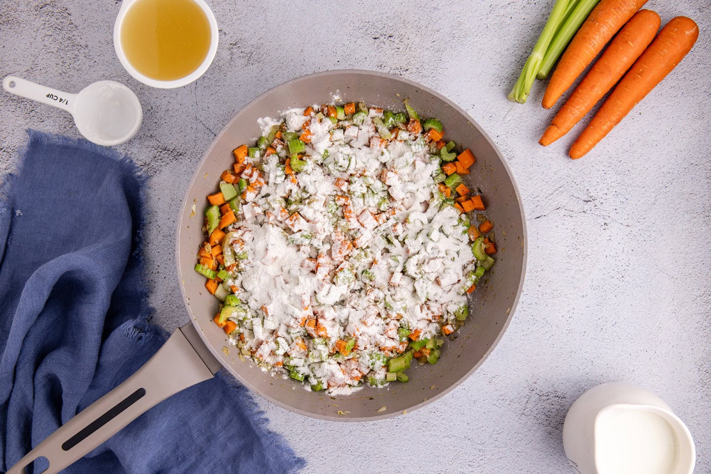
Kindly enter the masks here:
M 85 140 L 30 131 L 0 187 L 0 470 L 132 375 L 146 322 L 144 177 Z M 229 374 L 150 409 L 65 472 L 290 473 L 304 466 Z M 37 466 L 36 466 L 37 468 Z

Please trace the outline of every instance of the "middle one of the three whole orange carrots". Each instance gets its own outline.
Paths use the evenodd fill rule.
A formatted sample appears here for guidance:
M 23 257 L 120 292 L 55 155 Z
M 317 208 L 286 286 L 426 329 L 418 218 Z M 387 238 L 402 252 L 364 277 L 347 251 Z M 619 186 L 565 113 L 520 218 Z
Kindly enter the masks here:
M 638 11 L 617 33 L 574 93 L 560 107 L 538 143 L 546 147 L 569 132 L 649 46 L 660 24 L 661 19 L 655 12 Z

